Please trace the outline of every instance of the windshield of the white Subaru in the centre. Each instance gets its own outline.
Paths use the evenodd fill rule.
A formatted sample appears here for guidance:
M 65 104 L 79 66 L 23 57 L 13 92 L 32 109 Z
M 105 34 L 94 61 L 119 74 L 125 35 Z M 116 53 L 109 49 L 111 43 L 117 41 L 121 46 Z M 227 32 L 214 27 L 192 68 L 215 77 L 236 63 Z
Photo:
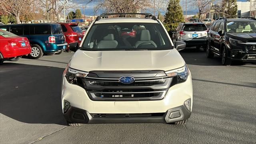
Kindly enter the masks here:
M 82 50 L 169 50 L 170 40 L 158 23 L 95 24 Z

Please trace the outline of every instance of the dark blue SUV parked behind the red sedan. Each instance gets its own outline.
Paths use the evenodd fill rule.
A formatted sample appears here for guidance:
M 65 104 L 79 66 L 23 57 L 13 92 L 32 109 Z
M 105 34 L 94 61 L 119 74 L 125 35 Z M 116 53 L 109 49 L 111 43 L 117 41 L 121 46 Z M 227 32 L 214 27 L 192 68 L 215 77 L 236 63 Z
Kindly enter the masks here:
M 60 24 L 9 24 L 0 29 L 27 37 L 32 47 L 30 58 L 60 54 L 67 46 Z

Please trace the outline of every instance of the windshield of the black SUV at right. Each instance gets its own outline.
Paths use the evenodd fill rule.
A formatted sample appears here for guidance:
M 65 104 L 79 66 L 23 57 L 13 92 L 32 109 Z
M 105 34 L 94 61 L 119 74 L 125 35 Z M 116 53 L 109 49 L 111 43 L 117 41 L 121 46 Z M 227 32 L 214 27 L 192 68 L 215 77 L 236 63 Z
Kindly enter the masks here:
M 256 32 L 256 22 L 236 21 L 227 22 L 227 32 Z

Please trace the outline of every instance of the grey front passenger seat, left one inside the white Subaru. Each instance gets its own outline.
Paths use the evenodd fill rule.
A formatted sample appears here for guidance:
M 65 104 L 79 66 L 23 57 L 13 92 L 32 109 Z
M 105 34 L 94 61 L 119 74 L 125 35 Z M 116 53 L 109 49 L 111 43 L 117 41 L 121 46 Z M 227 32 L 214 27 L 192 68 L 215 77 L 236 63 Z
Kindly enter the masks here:
M 108 34 L 96 45 L 96 48 L 116 48 L 117 45 L 118 42 L 114 40 L 114 34 Z

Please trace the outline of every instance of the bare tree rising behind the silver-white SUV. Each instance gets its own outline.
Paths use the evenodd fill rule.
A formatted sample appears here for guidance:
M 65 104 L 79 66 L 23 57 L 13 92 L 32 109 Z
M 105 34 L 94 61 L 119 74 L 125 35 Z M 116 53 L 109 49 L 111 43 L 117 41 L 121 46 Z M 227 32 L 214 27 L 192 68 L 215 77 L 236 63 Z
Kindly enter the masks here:
M 198 8 L 198 20 L 200 20 L 201 15 L 209 12 L 211 3 L 213 0 L 190 0 L 189 3 L 191 6 L 196 6 Z

